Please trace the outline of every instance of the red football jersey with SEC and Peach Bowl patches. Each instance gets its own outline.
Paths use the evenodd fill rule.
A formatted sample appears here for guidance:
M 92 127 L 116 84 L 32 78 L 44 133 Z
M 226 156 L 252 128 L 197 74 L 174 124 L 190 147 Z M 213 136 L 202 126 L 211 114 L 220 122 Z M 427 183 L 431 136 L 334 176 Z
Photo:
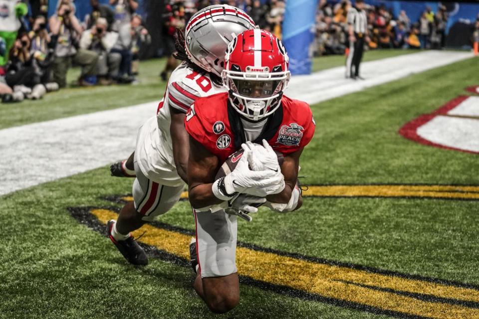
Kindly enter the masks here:
M 241 115 L 229 106 L 228 93 L 219 93 L 195 101 L 185 117 L 185 127 L 192 138 L 224 162 L 241 148 L 245 137 Z M 283 96 L 281 107 L 269 116 L 256 141 L 265 139 L 283 155 L 304 148 L 313 138 L 315 123 L 306 102 Z

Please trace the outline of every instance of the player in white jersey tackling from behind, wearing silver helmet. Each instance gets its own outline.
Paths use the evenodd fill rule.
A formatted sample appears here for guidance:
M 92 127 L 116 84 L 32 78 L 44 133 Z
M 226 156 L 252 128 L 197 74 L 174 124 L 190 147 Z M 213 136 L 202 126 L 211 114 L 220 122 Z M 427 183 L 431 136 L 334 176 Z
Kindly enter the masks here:
M 177 55 L 184 62 L 171 74 L 157 115 L 139 129 L 134 171 L 124 170 L 136 175 L 134 201 L 125 204 L 118 220 L 107 224 L 109 238 L 131 264 L 147 265 L 148 257 L 130 232 L 170 210 L 187 181 L 186 113 L 197 98 L 227 91 L 221 80 L 226 49 L 236 35 L 252 28 L 253 20 L 230 5 L 208 6 L 186 25 L 184 49 L 180 45 Z

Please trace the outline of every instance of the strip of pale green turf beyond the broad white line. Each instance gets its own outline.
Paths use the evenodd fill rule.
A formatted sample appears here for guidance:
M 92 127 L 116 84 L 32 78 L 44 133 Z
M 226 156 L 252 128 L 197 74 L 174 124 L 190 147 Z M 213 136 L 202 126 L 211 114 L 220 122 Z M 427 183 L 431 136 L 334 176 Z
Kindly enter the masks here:
M 411 50 L 378 50 L 365 53 L 364 60 L 406 54 Z M 324 56 L 313 60 L 313 71 L 344 65 L 344 56 Z M 68 87 L 45 95 L 40 101 L 25 100 L 15 104 L 0 104 L 0 129 L 28 123 L 64 118 L 79 114 L 115 109 L 159 100 L 165 92 L 165 82 L 158 76 L 165 59 L 142 61 L 139 84 Z M 68 83 L 79 76 L 79 69 L 68 72 Z

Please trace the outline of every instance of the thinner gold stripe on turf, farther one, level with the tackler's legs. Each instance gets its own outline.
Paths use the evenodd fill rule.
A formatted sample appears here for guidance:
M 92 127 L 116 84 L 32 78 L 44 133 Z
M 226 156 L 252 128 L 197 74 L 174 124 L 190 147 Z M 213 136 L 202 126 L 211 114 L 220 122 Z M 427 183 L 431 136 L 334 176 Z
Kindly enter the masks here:
M 479 186 L 454 185 L 311 185 L 303 191 L 303 196 L 317 197 L 416 197 L 416 198 L 451 198 L 479 199 Z M 188 198 L 188 192 L 181 194 Z M 131 196 L 121 199 L 133 200 Z

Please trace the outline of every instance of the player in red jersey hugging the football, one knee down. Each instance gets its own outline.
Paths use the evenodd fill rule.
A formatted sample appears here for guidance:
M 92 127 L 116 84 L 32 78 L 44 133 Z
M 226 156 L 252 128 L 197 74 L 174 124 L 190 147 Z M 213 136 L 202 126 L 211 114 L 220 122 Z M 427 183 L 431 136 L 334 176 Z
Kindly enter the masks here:
M 309 105 L 282 94 L 290 77 L 288 56 L 274 35 L 244 31 L 229 44 L 225 64 L 229 92 L 197 99 L 185 118 L 196 218 L 196 243 L 190 245 L 198 263 L 194 287 L 217 313 L 235 308 L 240 299 L 237 216 L 223 209 L 255 212 L 253 204 L 265 200 L 280 212 L 299 208 L 299 157 L 315 129 Z M 221 164 L 241 148 L 236 168 L 215 179 Z M 273 150 L 283 154 L 281 166 Z

